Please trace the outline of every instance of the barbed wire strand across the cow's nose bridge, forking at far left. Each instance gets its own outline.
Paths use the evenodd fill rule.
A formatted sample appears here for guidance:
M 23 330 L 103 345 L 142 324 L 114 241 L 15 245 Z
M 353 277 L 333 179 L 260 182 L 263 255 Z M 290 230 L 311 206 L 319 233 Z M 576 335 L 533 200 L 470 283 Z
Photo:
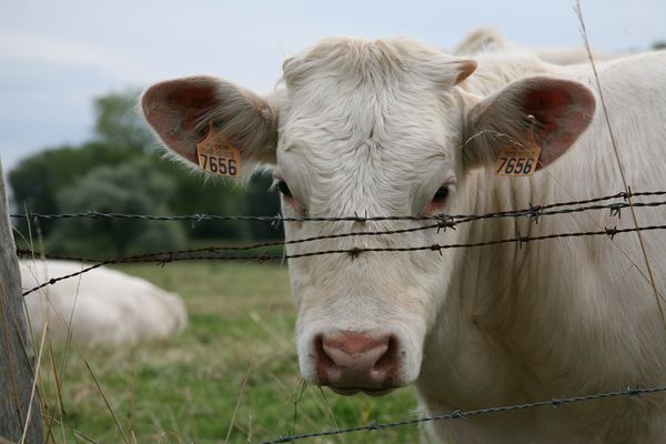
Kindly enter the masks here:
M 568 232 L 568 233 L 554 233 L 554 234 L 544 234 L 537 236 L 522 236 L 521 233 L 514 238 L 508 239 L 500 239 L 493 241 L 484 241 L 484 242 L 468 242 L 468 243 L 451 243 L 451 244 L 438 244 L 433 243 L 428 245 L 418 245 L 418 246 L 397 246 L 397 248 L 352 248 L 352 249 L 335 249 L 335 250 L 322 250 L 322 251 L 313 251 L 306 253 L 297 253 L 297 254 L 282 254 L 282 255 L 271 255 L 269 253 L 262 253 L 259 255 L 190 255 L 193 253 L 200 252 L 209 252 L 216 253 L 221 251 L 234 251 L 239 249 L 249 249 L 249 248 L 238 248 L 238 246 L 209 246 L 203 249 L 193 249 L 193 250 L 178 250 L 178 251 L 167 251 L 167 252 L 157 252 L 157 253 L 148 253 L 148 254 L 135 254 L 124 258 L 118 259 L 109 259 L 109 260 L 99 260 L 92 258 L 73 258 L 73 256 L 64 256 L 64 255 L 56 255 L 56 254 L 42 254 L 40 252 L 29 250 L 29 249 L 17 249 L 17 254 L 19 256 L 29 256 L 29 258 L 46 258 L 46 259 L 58 259 L 58 260 L 70 260 L 77 262 L 92 262 L 94 265 L 89 268 L 84 268 L 79 272 L 71 273 L 60 278 L 52 278 L 47 282 L 43 282 L 40 285 L 37 285 L 28 291 L 23 292 L 23 296 L 38 291 L 47 285 L 52 285 L 59 281 L 64 279 L 70 279 L 78 276 L 80 274 L 87 273 L 91 270 L 94 270 L 102 265 L 118 264 L 118 263 L 137 263 L 137 262 L 151 262 L 158 265 L 165 265 L 171 262 L 178 261 L 201 261 L 201 260 L 223 260 L 223 261 L 258 261 L 260 263 L 273 260 L 286 260 L 286 259 L 301 259 L 301 258 L 312 258 L 320 255 L 329 255 L 329 254 L 350 254 L 353 258 L 359 256 L 361 253 L 385 253 L 385 252 L 416 252 L 416 251 L 436 251 L 440 254 L 443 250 L 448 249 L 461 249 L 461 248 L 478 248 L 478 246 L 488 246 L 488 245 L 498 245 L 504 243 L 517 243 L 518 248 L 522 248 L 524 244 L 533 241 L 544 241 L 548 239 L 562 239 L 562 238 L 581 238 L 581 236 L 597 236 L 597 235 L 607 235 L 613 239 L 617 234 L 630 233 L 630 232 L 639 232 L 639 231 L 654 231 L 654 230 L 666 230 L 666 224 L 664 225 L 648 225 L 648 226 L 636 226 L 636 228 L 626 228 L 626 229 L 617 229 L 617 228 L 605 228 L 604 230 L 598 231 L 579 231 L 579 232 Z

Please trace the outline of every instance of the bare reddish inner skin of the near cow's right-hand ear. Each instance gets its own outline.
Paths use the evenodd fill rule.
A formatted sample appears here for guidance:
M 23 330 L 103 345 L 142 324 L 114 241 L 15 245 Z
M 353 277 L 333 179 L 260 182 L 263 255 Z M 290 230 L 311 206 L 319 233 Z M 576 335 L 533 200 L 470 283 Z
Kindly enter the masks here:
M 589 124 L 595 100 L 587 88 L 566 80 L 548 80 L 523 97 L 522 111 L 537 120 L 536 143 L 542 148 L 538 168 L 555 161 Z

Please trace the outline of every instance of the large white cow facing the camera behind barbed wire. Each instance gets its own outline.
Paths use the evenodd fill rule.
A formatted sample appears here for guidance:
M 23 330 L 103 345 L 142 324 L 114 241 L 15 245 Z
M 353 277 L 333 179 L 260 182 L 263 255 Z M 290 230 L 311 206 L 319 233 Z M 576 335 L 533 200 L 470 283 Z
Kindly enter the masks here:
M 478 64 L 478 65 L 477 65 Z M 627 182 L 666 189 L 666 54 L 599 67 Z M 243 171 L 273 170 L 289 216 L 487 213 L 623 190 L 593 77 L 536 58 L 453 58 L 408 39 L 329 39 L 284 63 L 262 98 L 226 81 L 158 83 L 143 112 L 196 162 L 212 122 Z M 531 178 L 495 174 L 501 147 L 541 145 Z M 513 143 L 512 143 L 513 141 Z M 566 154 L 566 155 L 563 155 Z M 558 159 L 563 157 L 563 159 Z M 642 225 L 663 209 L 637 210 Z M 287 223 L 287 240 L 427 222 Z M 327 239 L 290 254 L 484 242 L 632 226 L 608 212 Z M 665 293 L 666 236 L 644 232 Z M 290 260 L 307 381 L 342 394 L 415 383 L 428 414 L 666 383 L 662 323 L 635 233 L 485 248 Z M 643 274 L 642 274 L 643 273 Z M 626 443 L 666 436 L 666 400 L 622 397 L 431 423 L 461 443 Z

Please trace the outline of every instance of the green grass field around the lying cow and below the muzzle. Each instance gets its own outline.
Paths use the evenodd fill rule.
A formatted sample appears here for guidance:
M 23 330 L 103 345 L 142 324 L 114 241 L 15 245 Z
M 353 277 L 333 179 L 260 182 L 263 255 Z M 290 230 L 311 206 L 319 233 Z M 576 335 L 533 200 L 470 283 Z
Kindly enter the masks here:
M 285 268 L 208 262 L 119 269 L 182 295 L 190 324 L 170 342 L 132 350 L 72 345 L 63 374 L 65 352 L 54 345 L 42 359 L 41 390 L 57 443 L 123 443 L 123 434 L 130 443 L 253 443 L 416 416 L 410 389 L 381 398 L 343 397 L 302 383 Z M 407 426 L 303 442 L 416 441 L 416 426 Z

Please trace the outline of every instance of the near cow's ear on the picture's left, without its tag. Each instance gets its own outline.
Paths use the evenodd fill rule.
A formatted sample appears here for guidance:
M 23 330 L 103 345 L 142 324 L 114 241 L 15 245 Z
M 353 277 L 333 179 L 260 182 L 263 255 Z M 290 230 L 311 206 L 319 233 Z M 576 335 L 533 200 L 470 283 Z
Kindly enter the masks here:
M 263 98 L 230 82 L 190 77 L 157 83 L 143 93 L 141 108 L 160 140 L 190 164 L 199 164 L 196 144 L 211 130 L 241 151 L 242 171 L 275 163 L 275 113 Z

